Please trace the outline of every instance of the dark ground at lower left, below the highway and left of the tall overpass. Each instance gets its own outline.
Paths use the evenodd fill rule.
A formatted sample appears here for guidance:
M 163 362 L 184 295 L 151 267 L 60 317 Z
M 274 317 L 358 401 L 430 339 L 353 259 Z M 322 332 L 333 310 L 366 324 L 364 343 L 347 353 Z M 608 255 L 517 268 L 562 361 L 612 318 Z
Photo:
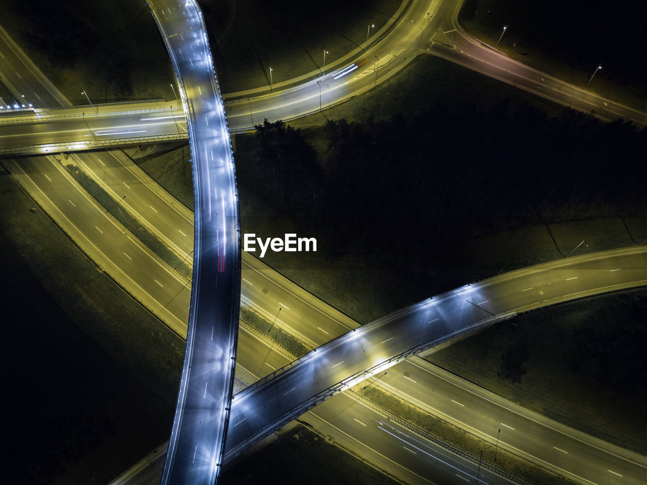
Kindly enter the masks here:
M 184 344 L 4 170 L 0 207 L 0 482 L 105 485 L 168 438 Z

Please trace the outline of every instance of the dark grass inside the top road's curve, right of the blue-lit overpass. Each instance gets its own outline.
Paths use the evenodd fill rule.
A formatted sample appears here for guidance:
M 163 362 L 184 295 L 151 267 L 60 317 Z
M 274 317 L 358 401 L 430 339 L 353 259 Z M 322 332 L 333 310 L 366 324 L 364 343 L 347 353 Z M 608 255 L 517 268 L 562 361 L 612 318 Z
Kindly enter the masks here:
M 329 1 L 322 6 L 291 0 L 202 3 L 223 93 L 274 84 L 320 69 L 366 45 L 400 6 L 399 0 Z

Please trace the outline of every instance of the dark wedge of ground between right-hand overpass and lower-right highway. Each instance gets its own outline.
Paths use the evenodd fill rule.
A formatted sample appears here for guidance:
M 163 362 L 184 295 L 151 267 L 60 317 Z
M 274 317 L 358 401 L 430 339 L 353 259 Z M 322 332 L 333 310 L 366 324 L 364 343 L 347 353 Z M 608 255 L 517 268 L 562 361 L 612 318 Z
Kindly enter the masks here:
M 637 288 L 519 315 L 424 358 L 543 416 L 644 454 L 646 344 L 647 291 Z

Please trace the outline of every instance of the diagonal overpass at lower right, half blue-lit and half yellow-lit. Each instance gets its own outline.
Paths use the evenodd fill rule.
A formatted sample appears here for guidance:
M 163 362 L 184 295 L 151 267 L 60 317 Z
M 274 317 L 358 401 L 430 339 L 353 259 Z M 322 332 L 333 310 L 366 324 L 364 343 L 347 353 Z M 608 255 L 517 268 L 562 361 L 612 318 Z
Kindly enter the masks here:
M 230 432 L 226 456 L 236 456 L 245 444 L 325 396 L 384 371 L 400 353 L 410 356 L 422 342 L 470 332 L 485 322 L 546 304 L 646 283 L 647 248 L 637 247 L 512 271 L 396 312 L 342 335 L 237 394 L 231 420 L 240 425 Z M 624 469 L 626 483 L 640 483 L 644 468 L 631 469 L 625 462 Z M 592 473 L 583 477 L 589 482 L 599 477 L 598 470 L 586 471 Z

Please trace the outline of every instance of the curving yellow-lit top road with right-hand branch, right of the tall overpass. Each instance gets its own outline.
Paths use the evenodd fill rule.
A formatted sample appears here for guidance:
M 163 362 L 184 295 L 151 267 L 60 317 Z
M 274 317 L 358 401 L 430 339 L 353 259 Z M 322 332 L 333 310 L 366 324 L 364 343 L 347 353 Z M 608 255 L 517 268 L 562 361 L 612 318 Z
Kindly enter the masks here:
M 303 76 L 317 76 L 313 80 L 282 91 L 275 89 L 274 93 L 265 95 L 254 96 L 253 93 L 249 93 L 248 98 L 241 98 L 240 93 L 235 93 L 237 99 L 226 103 L 230 129 L 246 130 L 252 127 L 252 122 L 258 124 L 264 118 L 290 120 L 316 113 L 384 82 L 419 54 L 440 56 L 535 95 L 590 113 L 602 120 L 610 121 L 622 117 L 643 126 L 647 124 L 646 113 L 536 71 L 472 38 L 457 23 L 457 13 L 461 5 L 462 0 L 414 2 L 397 21 L 393 30 L 388 34 L 378 32 L 369 39 L 367 51 L 364 51 L 364 46 L 358 47 L 346 56 L 348 62 L 342 63 L 341 67 L 329 69 L 325 76 L 317 76 L 317 71 L 313 71 Z M 291 81 L 284 84 L 291 84 Z M 258 89 L 266 90 L 267 87 Z M 144 126 L 146 123 L 127 118 L 126 115 L 124 118 L 123 121 L 115 122 L 115 126 L 128 126 L 129 130 L 133 130 L 131 135 L 124 133 L 124 138 L 136 137 L 136 132 L 148 130 Z M 68 132 L 73 128 L 65 126 L 67 124 L 69 120 L 61 120 L 56 130 L 50 130 L 61 132 L 60 142 L 70 141 Z M 157 129 L 164 131 L 161 126 Z M 166 126 L 164 132 L 171 135 L 173 130 Z M 72 138 L 76 142 L 85 141 L 88 135 L 87 130 L 74 133 L 76 137 Z M 55 138 L 52 135 L 50 139 Z M 20 144 L 21 141 L 16 139 L 14 145 Z M 3 145 L 0 144 L 1 148 Z

